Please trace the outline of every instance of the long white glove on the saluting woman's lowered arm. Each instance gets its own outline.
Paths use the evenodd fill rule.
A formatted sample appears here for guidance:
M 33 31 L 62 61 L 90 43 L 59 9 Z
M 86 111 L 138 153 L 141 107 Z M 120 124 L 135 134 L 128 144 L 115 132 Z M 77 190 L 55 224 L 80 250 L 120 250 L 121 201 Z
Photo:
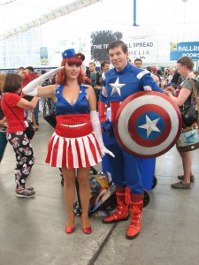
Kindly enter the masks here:
M 112 152 L 109 149 L 104 147 L 103 135 L 102 135 L 102 132 L 101 132 L 101 126 L 100 126 L 99 118 L 98 118 L 98 116 L 96 114 L 96 110 L 95 111 L 90 111 L 90 123 L 91 123 L 91 125 L 93 127 L 94 133 L 96 134 L 96 140 L 99 143 L 100 152 L 101 152 L 102 157 L 105 154 L 109 154 L 112 157 L 115 157 L 115 155 L 113 155 Z

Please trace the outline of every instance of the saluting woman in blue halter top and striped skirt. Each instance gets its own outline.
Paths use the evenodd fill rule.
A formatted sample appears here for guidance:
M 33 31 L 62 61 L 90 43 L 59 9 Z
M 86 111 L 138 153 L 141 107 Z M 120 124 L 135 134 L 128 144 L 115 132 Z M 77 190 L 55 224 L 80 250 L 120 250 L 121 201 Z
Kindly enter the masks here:
M 67 211 L 65 232 L 74 231 L 75 216 L 73 201 L 75 195 L 75 169 L 80 189 L 80 216 L 82 231 L 91 233 L 88 219 L 90 198 L 90 166 L 102 161 L 102 156 L 111 151 L 103 145 L 103 138 L 98 116 L 96 114 L 96 95 L 93 87 L 82 85 L 84 74 L 81 65 L 84 55 L 76 54 L 74 49 L 62 53 L 61 69 L 57 72 L 57 84 L 47 87 L 36 87 L 40 78 L 31 82 L 23 92 L 26 95 L 50 97 L 56 101 L 57 125 L 48 146 L 46 163 L 52 167 L 62 168 L 64 175 L 64 196 Z M 41 77 L 44 78 L 43 76 Z

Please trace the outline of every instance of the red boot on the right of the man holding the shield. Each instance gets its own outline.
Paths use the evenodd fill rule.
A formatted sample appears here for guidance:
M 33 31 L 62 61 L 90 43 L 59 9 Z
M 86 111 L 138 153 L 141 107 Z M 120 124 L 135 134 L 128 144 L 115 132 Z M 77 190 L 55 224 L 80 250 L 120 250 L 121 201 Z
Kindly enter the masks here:
M 128 226 L 126 239 L 135 239 L 141 231 L 143 195 L 131 193 L 131 222 Z

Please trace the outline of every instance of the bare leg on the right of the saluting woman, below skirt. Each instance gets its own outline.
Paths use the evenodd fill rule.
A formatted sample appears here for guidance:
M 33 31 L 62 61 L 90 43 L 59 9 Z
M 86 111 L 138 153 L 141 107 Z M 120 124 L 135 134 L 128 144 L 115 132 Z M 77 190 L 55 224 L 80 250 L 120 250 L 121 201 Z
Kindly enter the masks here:
M 84 228 L 90 226 L 88 219 L 88 205 L 90 200 L 89 170 L 90 168 L 80 168 L 78 169 L 77 173 L 79 182 L 80 204 L 82 209 L 81 220 Z

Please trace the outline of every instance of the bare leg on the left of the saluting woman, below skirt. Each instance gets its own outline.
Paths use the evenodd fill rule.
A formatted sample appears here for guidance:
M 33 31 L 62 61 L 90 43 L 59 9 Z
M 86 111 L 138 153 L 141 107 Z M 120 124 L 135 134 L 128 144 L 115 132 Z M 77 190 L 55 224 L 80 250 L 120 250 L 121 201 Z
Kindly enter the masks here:
M 65 208 L 67 211 L 67 222 L 66 225 L 69 227 L 74 226 L 74 183 L 75 183 L 75 171 L 62 168 L 64 177 L 64 197 L 65 197 Z

